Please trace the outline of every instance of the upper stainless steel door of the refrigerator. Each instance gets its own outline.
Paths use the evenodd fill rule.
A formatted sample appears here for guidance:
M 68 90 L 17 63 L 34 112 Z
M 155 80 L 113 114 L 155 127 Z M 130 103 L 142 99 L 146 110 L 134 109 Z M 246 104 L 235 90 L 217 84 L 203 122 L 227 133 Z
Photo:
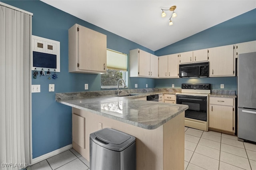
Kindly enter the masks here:
M 238 56 L 238 107 L 256 109 L 256 52 Z

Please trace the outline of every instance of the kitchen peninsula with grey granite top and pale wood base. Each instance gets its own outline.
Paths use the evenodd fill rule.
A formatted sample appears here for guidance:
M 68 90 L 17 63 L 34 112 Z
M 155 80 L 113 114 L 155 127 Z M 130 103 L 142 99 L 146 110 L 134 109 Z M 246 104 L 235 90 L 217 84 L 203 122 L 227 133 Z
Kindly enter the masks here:
M 137 170 L 184 169 L 187 105 L 136 100 L 145 93 L 127 98 L 82 93 L 90 92 L 56 93 L 56 101 L 72 107 L 72 144 L 84 158 L 90 160 L 90 133 L 102 125 L 136 137 Z

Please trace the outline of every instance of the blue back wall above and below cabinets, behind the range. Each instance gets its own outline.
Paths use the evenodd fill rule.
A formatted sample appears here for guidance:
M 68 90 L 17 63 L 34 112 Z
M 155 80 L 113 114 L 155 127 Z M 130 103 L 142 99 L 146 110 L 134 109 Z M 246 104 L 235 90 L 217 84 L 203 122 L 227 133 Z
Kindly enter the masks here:
M 256 9 L 159 49 L 155 51 L 155 55 L 168 55 L 253 40 L 256 40 Z M 155 86 L 172 87 L 174 84 L 175 87 L 181 87 L 182 83 L 210 83 L 211 89 L 220 89 L 220 84 L 224 84 L 224 90 L 237 90 L 236 78 L 156 79 Z

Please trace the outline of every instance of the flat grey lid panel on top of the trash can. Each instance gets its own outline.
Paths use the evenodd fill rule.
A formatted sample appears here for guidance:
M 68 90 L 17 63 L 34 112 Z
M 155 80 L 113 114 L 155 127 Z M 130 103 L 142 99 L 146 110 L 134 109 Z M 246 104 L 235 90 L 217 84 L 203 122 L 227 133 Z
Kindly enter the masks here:
M 104 128 L 102 130 L 98 130 L 94 134 L 98 138 L 112 144 L 122 144 L 126 140 L 131 138 L 130 135 L 111 128 Z

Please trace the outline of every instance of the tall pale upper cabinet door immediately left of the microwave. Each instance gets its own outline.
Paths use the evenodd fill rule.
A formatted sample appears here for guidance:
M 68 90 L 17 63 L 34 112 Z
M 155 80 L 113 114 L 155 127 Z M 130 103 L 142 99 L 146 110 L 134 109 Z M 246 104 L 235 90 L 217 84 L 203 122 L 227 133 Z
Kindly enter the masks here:
M 168 77 L 179 77 L 179 57 L 178 54 L 168 55 Z

